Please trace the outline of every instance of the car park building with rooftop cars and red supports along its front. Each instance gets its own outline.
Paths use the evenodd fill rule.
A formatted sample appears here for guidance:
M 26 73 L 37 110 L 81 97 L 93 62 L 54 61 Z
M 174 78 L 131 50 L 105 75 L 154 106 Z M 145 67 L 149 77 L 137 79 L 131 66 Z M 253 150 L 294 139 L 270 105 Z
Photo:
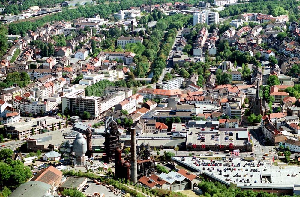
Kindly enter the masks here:
M 173 123 L 172 132 L 187 132 L 186 149 L 196 151 L 252 151 L 247 128 L 219 128 L 219 121 Z

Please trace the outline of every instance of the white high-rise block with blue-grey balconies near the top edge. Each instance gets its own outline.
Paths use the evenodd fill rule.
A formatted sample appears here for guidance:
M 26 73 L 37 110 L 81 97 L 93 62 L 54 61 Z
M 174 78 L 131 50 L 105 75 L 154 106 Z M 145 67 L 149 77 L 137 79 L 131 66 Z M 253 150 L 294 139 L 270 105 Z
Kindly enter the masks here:
M 206 23 L 210 24 L 218 24 L 220 15 L 217 12 L 211 12 L 209 10 L 204 10 L 202 12 L 194 12 L 193 13 L 193 25 L 198 23 Z

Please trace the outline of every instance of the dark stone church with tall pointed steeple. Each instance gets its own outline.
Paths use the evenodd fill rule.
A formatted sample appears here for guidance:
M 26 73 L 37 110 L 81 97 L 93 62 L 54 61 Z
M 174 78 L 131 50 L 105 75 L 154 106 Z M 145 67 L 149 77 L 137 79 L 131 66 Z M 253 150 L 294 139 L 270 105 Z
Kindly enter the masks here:
M 256 116 L 259 114 L 265 116 L 270 111 L 267 102 L 259 96 L 259 86 L 256 88 L 256 98 L 252 100 L 250 110 L 251 113 L 254 113 Z

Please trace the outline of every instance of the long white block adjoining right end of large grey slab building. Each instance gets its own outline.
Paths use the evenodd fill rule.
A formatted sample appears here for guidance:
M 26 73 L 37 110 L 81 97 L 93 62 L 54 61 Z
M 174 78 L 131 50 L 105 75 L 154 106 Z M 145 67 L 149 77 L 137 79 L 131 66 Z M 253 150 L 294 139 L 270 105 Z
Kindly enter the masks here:
M 126 93 L 121 91 L 115 94 L 109 94 L 100 99 L 100 113 L 106 112 L 116 104 L 126 99 Z

